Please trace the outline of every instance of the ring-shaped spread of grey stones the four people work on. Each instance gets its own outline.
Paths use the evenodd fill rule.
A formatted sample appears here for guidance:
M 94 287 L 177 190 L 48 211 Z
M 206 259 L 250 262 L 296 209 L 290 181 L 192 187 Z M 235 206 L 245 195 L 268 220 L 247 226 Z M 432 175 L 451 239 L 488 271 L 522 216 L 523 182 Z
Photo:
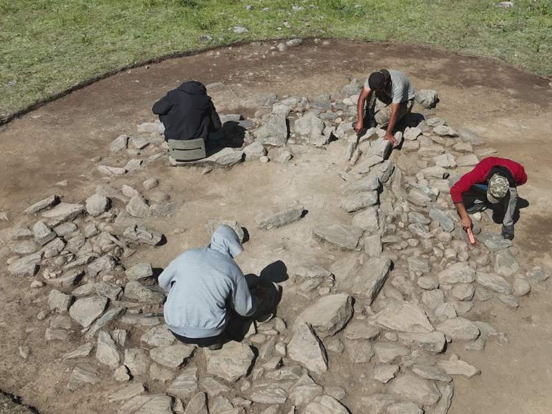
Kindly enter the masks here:
M 47 295 L 48 306 L 37 315 L 47 341 L 77 338 L 75 349 L 60 355 L 71 368 L 68 389 L 119 382 L 104 397 L 120 414 L 446 414 L 454 377 L 480 373 L 446 355 L 447 344 L 480 351 L 487 339 L 507 341 L 473 320 L 475 303 L 495 298 L 515 308 L 550 273 L 524 269 L 511 242 L 483 231 L 491 222 L 486 213 L 473 216 L 478 244 L 466 243 L 449 186 L 492 150 L 430 112 L 397 132 L 395 148 L 379 128 L 357 137 L 351 121 L 360 88 L 353 80 L 335 95 L 311 100 L 270 96 L 254 119 L 228 116 L 246 130 L 244 148 L 229 148 L 239 161 L 286 162 L 290 144 L 337 140 L 346 154 L 341 206 L 351 215 L 350 224 L 322 222 L 312 235 L 328 252 L 353 254 L 331 269 L 316 263 L 290 269 L 289 294 L 299 294 L 302 311 L 290 323 L 273 317 L 252 324 L 241 343 L 219 351 L 179 344 L 155 313 L 164 293 L 152 265 L 135 263 L 132 255 L 164 241 L 144 219 L 175 210 L 169 195 L 152 191 L 157 179 L 144 181 L 141 191 L 98 186 L 82 204 L 52 195 L 25 211 L 33 224 L 12 228 L 8 270 L 32 278 L 31 288 Z M 435 92 L 419 92 L 424 106 L 435 99 Z M 135 137 L 119 136 L 110 163 L 98 170 L 126 175 L 167 157 L 161 133 L 160 124 L 146 123 Z M 125 153 L 135 158 L 121 166 Z M 292 204 L 257 215 L 255 223 L 271 230 L 303 215 L 303 206 Z M 206 226 L 213 231 L 220 223 Z M 224 224 L 244 238 L 237 222 Z M 22 357 L 30 351 L 20 348 Z M 328 366 L 344 361 L 342 377 L 324 377 Z M 366 392 L 348 395 L 347 365 L 357 364 Z

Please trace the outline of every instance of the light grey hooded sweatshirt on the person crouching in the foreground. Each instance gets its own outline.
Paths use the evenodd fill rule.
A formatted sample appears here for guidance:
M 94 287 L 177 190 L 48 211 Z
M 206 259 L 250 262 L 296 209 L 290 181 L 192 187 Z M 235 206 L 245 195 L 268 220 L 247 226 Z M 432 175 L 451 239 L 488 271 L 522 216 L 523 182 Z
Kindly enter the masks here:
M 188 338 L 217 336 L 226 327 L 226 306 L 239 315 L 255 313 L 246 279 L 233 258 L 244 248 L 229 226 L 219 226 L 208 246 L 186 250 L 159 276 L 168 293 L 164 306 L 170 330 Z

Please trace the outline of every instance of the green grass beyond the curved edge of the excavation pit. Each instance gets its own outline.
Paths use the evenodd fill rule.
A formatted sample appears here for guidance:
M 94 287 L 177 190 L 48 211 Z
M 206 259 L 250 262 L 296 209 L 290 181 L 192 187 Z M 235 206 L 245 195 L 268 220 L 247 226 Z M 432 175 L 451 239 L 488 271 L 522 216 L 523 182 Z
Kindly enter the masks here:
M 128 63 L 248 39 L 319 36 L 428 43 L 552 75 L 552 0 L 514 0 L 512 9 L 494 3 L 0 0 L 0 117 Z M 293 11 L 294 4 L 304 10 Z M 232 26 L 249 32 L 235 34 Z M 201 41 L 203 34 L 213 39 Z

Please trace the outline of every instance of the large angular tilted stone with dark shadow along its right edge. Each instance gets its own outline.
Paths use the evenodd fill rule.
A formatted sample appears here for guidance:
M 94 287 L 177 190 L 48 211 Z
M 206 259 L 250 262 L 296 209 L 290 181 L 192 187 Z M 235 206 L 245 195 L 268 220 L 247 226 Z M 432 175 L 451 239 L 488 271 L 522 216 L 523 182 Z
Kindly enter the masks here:
M 371 304 L 384 285 L 390 270 L 391 259 L 385 256 L 371 257 L 363 264 L 357 262 L 347 277 L 339 283 L 339 287 L 355 296 L 366 297 L 368 304 Z

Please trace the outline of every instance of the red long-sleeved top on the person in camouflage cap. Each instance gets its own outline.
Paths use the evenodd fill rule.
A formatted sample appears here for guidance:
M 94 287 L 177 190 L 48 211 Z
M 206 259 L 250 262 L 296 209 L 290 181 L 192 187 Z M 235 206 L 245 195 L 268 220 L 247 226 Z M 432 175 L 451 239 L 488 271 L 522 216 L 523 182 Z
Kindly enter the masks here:
M 474 184 L 486 184 L 487 176 L 494 166 L 503 166 L 508 168 L 517 186 L 525 184 L 527 175 L 521 164 L 507 158 L 487 157 L 479 161 L 473 170 L 462 175 L 462 178 L 451 188 L 451 197 L 454 203 L 462 203 L 462 193 L 470 189 Z

